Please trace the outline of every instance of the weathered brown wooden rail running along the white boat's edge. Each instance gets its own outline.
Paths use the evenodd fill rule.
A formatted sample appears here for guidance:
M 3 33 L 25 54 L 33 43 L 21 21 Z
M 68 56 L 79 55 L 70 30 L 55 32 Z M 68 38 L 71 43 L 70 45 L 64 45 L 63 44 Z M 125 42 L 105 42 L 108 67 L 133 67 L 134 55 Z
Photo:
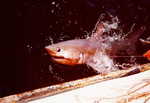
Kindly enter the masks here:
M 77 88 L 86 87 L 88 85 L 91 86 L 92 84 L 99 84 L 102 81 L 128 76 L 128 75 L 133 74 L 134 72 L 135 73 L 136 72 L 144 72 L 144 71 L 148 71 L 148 70 L 150 70 L 150 63 L 141 65 L 141 66 L 137 66 L 136 68 L 132 67 L 128 70 L 112 72 L 107 75 L 96 75 L 96 76 L 92 76 L 92 77 L 88 77 L 88 78 L 84 78 L 84 79 L 80 79 L 80 80 L 75 80 L 75 81 L 71 81 L 71 82 L 67 82 L 67 83 L 62 83 L 62 84 L 58 84 L 58 85 L 48 86 L 48 87 L 24 92 L 21 94 L 7 96 L 4 98 L 0 98 L 0 103 L 28 102 L 28 101 L 34 101 L 36 99 L 39 100 L 40 98 L 44 98 L 47 96 L 53 96 L 56 94 L 58 95 L 60 93 L 66 92 L 66 91 L 75 90 Z M 143 75 L 143 74 L 140 73 L 140 75 Z M 122 81 L 120 81 L 120 83 L 122 83 Z

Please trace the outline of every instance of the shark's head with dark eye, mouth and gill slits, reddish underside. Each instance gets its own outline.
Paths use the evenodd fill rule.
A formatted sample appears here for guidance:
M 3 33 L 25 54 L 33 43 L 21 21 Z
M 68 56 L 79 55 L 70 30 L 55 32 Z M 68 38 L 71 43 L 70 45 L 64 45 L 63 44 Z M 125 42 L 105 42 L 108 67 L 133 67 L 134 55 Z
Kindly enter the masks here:
M 45 47 L 55 62 L 67 65 L 84 64 L 88 55 L 94 53 L 88 48 L 86 40 L 69 40 Z

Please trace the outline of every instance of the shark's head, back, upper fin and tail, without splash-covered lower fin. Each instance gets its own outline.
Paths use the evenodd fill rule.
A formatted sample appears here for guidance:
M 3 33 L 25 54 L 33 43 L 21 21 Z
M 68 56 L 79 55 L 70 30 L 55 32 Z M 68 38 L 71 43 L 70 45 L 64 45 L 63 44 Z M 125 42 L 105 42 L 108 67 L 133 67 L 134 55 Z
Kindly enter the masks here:
M 89 38 L 63 41 L 48 45 L 45 49 L 57 63 L 72 66 L 78 64 L 89 65 L 93 62 L 93 57 L 96 53 L 103 52 L 106 55 L 114 56 L 120 49 L 125 48 L 125 51 L 129 51 L 127 49 L 130 49 L 131 45 L 135 44 L 145 30 L 145 27 L 140 27 L 138 30 L 131 32 L 129 38 L 112 42 L 111 46 L 109 45 L 109 47 L 106 47 L 104 46 L 105 40 L 102 39 L 102 37 L 104 32 L 107 32 L 108 29 L 114 29 L 113 25 L 114 24 L 108 25 L 98 20 Z M 94 66 L 92 66 L 92 68 L 96 69 Z

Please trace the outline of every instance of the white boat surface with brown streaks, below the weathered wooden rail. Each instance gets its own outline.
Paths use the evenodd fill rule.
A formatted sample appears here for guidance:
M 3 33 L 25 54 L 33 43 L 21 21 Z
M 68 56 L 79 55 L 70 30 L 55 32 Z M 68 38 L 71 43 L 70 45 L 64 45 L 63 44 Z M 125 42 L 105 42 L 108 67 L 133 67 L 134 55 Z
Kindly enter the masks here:
M 29 103 L 150 103 L 150 70 Z

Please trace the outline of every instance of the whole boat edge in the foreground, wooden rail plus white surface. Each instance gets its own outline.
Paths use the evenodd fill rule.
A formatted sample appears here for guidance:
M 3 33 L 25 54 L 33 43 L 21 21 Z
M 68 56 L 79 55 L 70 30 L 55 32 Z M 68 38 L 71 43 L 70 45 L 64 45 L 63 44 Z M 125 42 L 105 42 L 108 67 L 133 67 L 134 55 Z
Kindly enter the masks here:
M 133 72 L 141 73 L 124 77 Z M 149 99 L 150 64 L 145 64 L 7 96 L 0 103 L 149 103 Z

